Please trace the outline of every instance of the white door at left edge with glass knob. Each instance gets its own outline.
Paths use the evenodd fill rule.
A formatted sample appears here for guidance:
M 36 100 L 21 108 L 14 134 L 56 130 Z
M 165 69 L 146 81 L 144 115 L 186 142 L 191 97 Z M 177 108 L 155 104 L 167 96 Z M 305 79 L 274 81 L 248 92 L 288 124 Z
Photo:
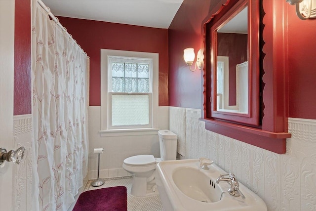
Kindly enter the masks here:
M 0 0 L 0 147 L 13 149 L 14 0 Z M 12 165 L 0 166 L 0 210 L 12 210 Z

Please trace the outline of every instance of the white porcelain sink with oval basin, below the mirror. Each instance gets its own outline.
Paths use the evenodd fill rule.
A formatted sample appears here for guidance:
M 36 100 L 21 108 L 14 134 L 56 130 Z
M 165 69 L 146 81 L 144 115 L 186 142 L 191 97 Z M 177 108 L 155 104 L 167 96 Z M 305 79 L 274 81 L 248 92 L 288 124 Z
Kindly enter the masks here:
M 162 161 L 156 167 L 156 184 L 166 211 L 267 211 L 264 201 L 239 182 L 245 196 L 232 196 L 228 182 L 216 183 L 225 174 L 215 164 L 201 169 L 198 159 Z M 223 193 L 223 194 L 222 194 Z

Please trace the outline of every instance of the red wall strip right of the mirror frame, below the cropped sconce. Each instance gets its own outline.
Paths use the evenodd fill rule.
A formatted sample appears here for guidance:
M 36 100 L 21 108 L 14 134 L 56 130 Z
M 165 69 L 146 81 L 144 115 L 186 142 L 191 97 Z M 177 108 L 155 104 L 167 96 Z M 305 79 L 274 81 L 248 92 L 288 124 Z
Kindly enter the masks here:
M 289 117 L 316 119 L 316 19 L 288 14 Z

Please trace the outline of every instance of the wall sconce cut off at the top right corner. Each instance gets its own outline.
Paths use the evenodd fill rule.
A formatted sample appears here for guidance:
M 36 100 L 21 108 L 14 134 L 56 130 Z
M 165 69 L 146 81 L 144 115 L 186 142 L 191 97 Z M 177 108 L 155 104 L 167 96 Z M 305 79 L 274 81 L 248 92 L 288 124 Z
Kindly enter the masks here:
M 302 19 L 316 18 L 316 0 L 286 0 L 296 6 L 296 14 Z

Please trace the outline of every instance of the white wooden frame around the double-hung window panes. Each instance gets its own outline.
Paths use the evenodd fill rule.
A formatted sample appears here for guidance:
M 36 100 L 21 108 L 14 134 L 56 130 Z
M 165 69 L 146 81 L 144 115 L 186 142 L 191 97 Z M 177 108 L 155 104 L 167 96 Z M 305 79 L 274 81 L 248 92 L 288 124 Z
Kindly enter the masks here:
M 152 59 L 152 96 L 151 98 L 151 107 L 149 108 L 151 111 L 150 115 L 150 127 L 111 127 L 109 118 L 110 114 L 110 103 L 109 93 L 118 93 L 118 92 L 108 92 L 108 57 L 118 56 L 118 57 L 133 57 L 139 59 Z M 101 128 L 100 133 L 101 136 L 116 136 L 116 135 L 131 135 L 131 134 L 139 134 L 139 132 L 145 134 L 155 134 L 157 133 L 157 113 L 158 113 L 158 61 L 159 54 L 158 53 L 149 53 L 149 52 L 138 52 L 138 51 L 125 51 L 125 50 L 112 50 L 112 49 L 101 49 L 100 51 L 100 87 L 101 87 L 101 108 L 100 108 L 100 121 Z M 148 92 L 146 92 L 147 94 Z M 127 94 L 127 93 L 124 93 Z M 138 93 L 138 94 L 141 94 Z M 122 133 L 123 132 L 123 133 Z M 125 133 L 124 133 L 125 132 Z

